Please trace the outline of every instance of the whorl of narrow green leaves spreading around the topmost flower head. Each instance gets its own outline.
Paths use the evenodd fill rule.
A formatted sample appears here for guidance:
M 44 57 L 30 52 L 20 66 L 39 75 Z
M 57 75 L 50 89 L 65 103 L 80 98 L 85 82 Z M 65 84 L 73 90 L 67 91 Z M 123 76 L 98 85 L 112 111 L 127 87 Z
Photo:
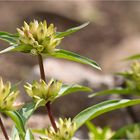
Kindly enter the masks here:
M 86 27 L 89 24 L 89 22 L 82 24 L 78 27 L 74 27 L 71 29 L 66 30 L 65 32 L 56 32 L 55 37 L 57 38 L 63 38 L 66 37 L 72 33 L 75 33 L 77 31 L 79 31 L 80 29 Z M 0 39 L 5 40 L 7 42 L 9 42 L 11 44 L 10 47 L 2 50 L 0 53 L 6 53 L 6 52 L 23 52 L 23 53 L 30 53 L 32 50 L 32 46 L 31 45 L 25 45 L 25 44 L 19 44 L 18 43 L 18 38 L 19 36 L 16 34 L 10 34 L 10 33 L 6 33 L 6 32 L 0 32 Z M 76 53 L 70 52 L 70 51 L 66 51 L 66 50 L 62 50 L 62 49 L 54 49 L 53 52 L 48 53 L 43 52 L 42 55 L 44 56 L 49 56 L 49 57 L 54 57 L 54 58 L 62 58 L 62 59 L 67 59 L 70 61 L 75 61 L 75 62 L 79 62 L 82 64 L 86 64 L 86 65 L 90 65 L 96 69 L 101 70 L 100 66 L 93 60 L 88 59 L 84 56 L 80 56 Z

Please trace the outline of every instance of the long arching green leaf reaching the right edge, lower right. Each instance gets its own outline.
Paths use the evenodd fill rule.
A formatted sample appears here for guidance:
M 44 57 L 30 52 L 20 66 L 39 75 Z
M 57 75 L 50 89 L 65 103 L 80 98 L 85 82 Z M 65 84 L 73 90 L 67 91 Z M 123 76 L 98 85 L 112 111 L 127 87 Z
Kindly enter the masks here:
M 96 105 L 93 105 L 82 112 L 80 112 L 76 117 L 74 117 L 73 121 L 77 124 L 77 129 L 81 127 L 86 121 L 94 119 L 101 114 L 106 112 L 116 110 L 119 108 L 124 108 L 127 106 L 132 106 L 140 104 L 140 99 L 137 100 L 109 100 Z

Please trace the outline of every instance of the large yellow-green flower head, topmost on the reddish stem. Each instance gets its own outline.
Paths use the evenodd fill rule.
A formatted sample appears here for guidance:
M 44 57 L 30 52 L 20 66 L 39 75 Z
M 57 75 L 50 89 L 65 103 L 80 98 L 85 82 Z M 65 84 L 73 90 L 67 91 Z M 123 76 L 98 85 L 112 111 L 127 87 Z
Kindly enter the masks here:
M 27 47 L 30 46 L 32 54 L 51 53 L 62 40 L 62 38 L 56 37 L 54 25 L 50 24 L 47 27 L 46 21 L 34 20 L 29 24 L 24 22 L 22 29 L 17 28 L 17 31 L 19 33 L 18 43 Z

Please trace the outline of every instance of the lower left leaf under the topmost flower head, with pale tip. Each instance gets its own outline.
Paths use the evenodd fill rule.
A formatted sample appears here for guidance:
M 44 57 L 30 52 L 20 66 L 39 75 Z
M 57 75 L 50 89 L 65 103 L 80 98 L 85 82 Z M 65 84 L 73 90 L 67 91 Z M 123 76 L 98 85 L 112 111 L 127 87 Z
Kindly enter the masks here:
M 14 45 L 14 46 L 10 46 L 2 51 L 0 51 L 0 53 L 7 53 L 7 52 L 24 52 L 24 53 L 28 53 L 31 50 L 31 46 L 28 45 Z

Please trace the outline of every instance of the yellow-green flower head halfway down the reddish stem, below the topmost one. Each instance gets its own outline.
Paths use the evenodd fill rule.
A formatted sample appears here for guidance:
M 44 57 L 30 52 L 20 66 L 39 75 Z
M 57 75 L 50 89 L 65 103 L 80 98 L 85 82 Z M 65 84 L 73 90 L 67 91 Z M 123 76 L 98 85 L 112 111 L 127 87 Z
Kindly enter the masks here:
M 62 86 L 62 82 L 51 79 L 48 84 L 45 81 L 33 81 L 32 84 L 27 83 L 24 87 L 29 96 L 35 100 L 43 99 L 45 102 L 53 101 L 58 95 Z

